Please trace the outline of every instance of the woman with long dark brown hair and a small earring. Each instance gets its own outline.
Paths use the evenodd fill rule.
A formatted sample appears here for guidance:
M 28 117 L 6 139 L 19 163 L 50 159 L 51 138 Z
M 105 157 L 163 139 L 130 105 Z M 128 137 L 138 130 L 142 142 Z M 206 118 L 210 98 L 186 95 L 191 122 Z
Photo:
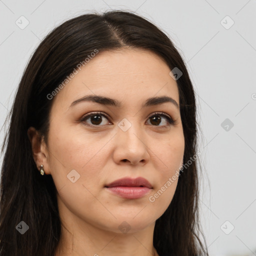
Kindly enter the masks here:
M 195 114 L 184 62 L 151 22 L 108 11 L 56 27 L 11 109 L 0 255 L 207 255 Z

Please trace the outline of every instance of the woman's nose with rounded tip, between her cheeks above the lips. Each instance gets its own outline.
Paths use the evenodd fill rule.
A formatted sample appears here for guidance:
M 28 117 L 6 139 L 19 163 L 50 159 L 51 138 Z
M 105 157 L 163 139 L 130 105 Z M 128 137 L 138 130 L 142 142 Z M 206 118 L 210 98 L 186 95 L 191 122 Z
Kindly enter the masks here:
M 124 131 L 117 128 L 115 135 L 113 159 L 116 164 L 144 165 L 149 160 L 146 136 L 138 124 L 132 125 Z

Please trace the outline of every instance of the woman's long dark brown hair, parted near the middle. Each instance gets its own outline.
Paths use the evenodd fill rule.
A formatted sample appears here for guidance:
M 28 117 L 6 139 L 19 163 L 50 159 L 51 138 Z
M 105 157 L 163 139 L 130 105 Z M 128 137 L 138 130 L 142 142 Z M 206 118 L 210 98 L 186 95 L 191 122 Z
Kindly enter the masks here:
M 51 93 L 76 65 L 97 49 L 147 49 L 182 72 L 176 80 L 185 138 L 183 163 L 196 154 L 195 95 L 181 55 L 168 36 L 146 18 L 130 11 L 87 13 L 54 28 L 31 56 L 7 116 L 1 153 L 0 255 L 54 256 L 61 223 L 51 175 L 41 176 L 32 157 L 27 129 L 35 127 L 47 144 Z M 159 255 L 208 255 L 200 241 L 196 161 L 182 171 L 166 211 L 156 220 L 153 245 Z M 24 221 L 29 229 L 20 234 Z

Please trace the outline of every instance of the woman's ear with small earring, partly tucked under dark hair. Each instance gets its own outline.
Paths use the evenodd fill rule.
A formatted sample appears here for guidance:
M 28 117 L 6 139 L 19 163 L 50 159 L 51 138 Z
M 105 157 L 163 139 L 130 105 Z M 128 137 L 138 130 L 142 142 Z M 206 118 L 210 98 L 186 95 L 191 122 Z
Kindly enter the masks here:
M 43 136 L 40 135 L 40 133 L 32 126 L 27 129 L 27 136 L 31 143 L 32 155 L 37 169 L 40 170 L 40 166 L 42 164 L 44 173 L 49 174 L 48 150 Z

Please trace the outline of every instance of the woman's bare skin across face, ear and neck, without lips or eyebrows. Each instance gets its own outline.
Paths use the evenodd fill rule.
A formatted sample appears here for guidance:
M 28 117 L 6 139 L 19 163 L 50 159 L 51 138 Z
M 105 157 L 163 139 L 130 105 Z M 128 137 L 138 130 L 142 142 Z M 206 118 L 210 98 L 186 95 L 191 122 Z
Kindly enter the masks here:
M 155 220 L 170 204 L 178 179 L 154 202 L 148 198 L 182 165 L 184 136 L 174 104 L 141 105 L 149 97 L 166 95 L 179 104 L 177 83 L 169 72 L 167 64 L 147 50 L 99 52 L 51 99 L 48 144 L 29 127 L 38 170 L 43 164 L 57 188 L 62 226 L 55 256 L 158 255 L 153 247 Z M 83 101 L 69 108 L 88 94 L 117 99 L 121 107 Z M 100 115 L 99 124 L 90 117 L 80 121 L 93 111 L 109 118 Z M 161 116 L 155 125 L 149 117 L 156 111 L 170 115 L 175 124 L 168 126 Z M 131 123 L 126 131 L 118 126 L 123 118 Z M 67 178 L 72 169 L 80 175 L 75 182 Z M 104 187 L 122 177 L 138 176 L 153 188 L 137 199 L 125 199 Z M 130 228 L 126 233 L 118 228 L 123 221 Z

